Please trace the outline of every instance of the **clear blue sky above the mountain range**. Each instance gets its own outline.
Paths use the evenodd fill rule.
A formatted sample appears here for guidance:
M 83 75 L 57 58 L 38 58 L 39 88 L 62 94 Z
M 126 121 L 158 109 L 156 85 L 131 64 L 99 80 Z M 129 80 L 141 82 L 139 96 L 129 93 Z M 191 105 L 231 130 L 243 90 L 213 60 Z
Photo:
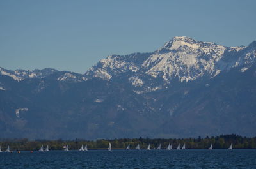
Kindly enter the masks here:
M 0 66 L 84 73 L 111 54 L 152 52 L 173 36 L 227 46 L 256 40 L 256 1 L 0 1 Z

